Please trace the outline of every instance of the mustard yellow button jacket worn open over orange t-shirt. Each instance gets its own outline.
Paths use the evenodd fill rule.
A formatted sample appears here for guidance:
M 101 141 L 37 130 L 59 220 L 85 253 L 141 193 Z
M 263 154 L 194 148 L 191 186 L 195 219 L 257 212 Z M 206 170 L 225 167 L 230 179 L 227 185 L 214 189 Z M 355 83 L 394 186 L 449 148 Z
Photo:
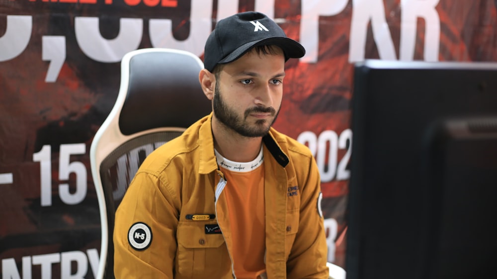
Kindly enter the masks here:
M 211 117 L 150 154 L 131 182 L 116 212 L 117 279 L 236 277 Z M 327 279 L 315 160 L 307 147 L 272 128 L 263 142 L 267 278 Z M 199 214 L 201 220 L 191 216 Z

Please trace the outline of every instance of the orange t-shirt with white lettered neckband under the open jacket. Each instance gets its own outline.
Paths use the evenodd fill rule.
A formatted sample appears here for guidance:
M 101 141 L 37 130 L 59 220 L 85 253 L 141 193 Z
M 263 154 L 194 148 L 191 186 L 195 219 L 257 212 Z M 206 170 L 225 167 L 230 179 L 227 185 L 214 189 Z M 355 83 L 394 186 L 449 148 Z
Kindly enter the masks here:
M 262 147 L 255 160 L 238 163 L 216 157 L 227 184 L 227 200 L 233 236 L 231 257 L 237 279 L 257 279 L 265 272 L 264 158 Z

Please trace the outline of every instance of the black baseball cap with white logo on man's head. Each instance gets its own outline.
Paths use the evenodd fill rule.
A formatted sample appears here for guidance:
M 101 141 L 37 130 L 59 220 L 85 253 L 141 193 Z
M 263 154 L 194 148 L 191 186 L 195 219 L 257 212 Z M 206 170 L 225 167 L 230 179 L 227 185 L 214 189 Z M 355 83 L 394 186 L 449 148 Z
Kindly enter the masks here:
M 304 56 L 304 47 L 288 38 L 276 22 L 255 11 L 237 13 L 221 19 L 209 35 L 204 49 L 204 67 L 212 72 L 217 64 L 237 60 L 258 45 L 276 45 L 285 59 Z

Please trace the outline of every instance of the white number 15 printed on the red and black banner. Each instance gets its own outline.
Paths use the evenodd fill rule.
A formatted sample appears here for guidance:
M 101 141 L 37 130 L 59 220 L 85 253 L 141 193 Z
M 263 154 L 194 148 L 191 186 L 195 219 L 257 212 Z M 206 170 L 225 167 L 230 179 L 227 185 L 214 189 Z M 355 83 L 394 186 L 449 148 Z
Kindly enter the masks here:
M 59 184 L 59 197 L 66 204 L 78 204 L 86 196 L 86 167 L 82 162 L 70 162 L 71 155 L 86 153 L 84 143 L 61 144 L 59 153 L 59 181 L 68 181 L 71 173 L 76 175 L 76 191 L 69 190 L 69 183 Z M 40 162 L 41 206 L 52 205 L 52 148 L 44 145 L 33 154 L 33 161 Z

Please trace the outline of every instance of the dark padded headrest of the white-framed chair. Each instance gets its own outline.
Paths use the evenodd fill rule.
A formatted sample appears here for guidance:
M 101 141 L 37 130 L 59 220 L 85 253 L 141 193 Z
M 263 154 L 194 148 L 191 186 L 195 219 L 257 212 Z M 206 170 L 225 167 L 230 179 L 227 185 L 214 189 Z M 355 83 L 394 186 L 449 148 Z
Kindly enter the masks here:
M 129 60 L 127 95 L 119 116 L 124 135 L 159 127 L 186 128 L 212 110 L 202 92 L 198 58 L 152 51 Z M 121 91 L 125 90 L 122 88 Z M 120 92 L 121 93 L 121 92 Z

